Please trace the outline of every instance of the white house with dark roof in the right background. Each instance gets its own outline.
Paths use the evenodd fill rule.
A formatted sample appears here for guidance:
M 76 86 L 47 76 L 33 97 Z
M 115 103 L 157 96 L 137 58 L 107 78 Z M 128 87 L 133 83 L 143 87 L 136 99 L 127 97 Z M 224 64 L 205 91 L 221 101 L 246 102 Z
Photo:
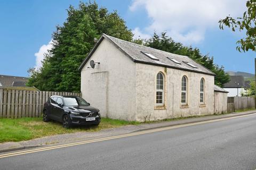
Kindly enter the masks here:
M 230 81 L 224 84 L 224 90 L 228 91 L 228 97 L 242 96 L 251 88 L 250 81 L 244 81 L 242 75 L 231 75 Z

